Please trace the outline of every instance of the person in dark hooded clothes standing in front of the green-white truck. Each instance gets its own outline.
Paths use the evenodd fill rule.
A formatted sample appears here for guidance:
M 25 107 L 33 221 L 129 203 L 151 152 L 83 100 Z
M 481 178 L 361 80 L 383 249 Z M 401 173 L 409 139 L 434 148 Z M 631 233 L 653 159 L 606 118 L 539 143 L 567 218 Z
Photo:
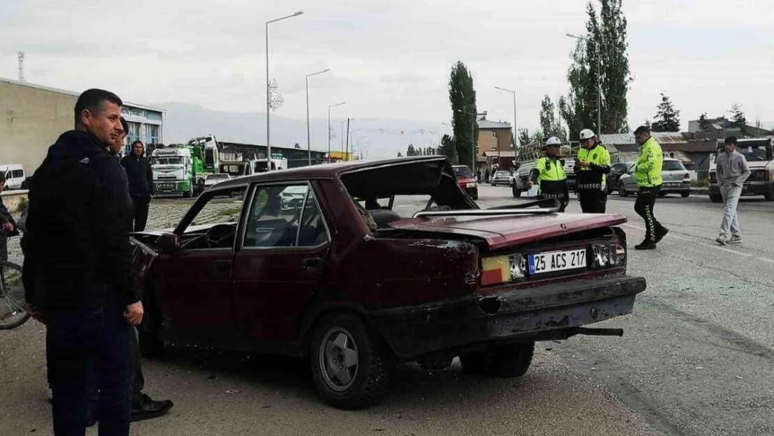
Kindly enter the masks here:
M 121 166 L 126 170 L 129 180 L 129 195 L 132 197 L 132 229 L 135 232 L 145 230 L 148 222 L 148 208 L 153 192 L 153 171 L 150 162 L 144 156 L 145 146 L 142 141 L 132 142 L 132 153 L 121 160 Z

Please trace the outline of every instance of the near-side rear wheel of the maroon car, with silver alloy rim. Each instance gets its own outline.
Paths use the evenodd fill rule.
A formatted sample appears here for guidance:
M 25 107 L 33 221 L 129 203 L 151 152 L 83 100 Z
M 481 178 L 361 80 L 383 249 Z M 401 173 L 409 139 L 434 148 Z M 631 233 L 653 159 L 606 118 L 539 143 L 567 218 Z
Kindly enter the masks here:
M 347 355 L 352 359 L 349 363 Z M 310 342 L 310 364 L 320 397 L 340 409 L 375 403 L 389 379 L 386 346 L 354 314 L 330 314 L 317 323 Z M 339 372 L 331 372 L 336 366 Z

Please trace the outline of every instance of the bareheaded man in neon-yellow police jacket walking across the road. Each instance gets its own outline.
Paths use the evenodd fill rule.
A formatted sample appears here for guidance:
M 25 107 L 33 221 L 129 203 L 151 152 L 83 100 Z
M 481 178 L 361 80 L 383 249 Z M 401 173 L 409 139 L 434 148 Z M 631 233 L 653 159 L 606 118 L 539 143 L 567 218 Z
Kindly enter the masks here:
M 634 132 L 635 139 L 642 147 L 639 159 L 635 164 L 634 178 L 639 192 L 634 210 L 637 215 L 645 220 L 645 241 L 635 245 L 638 250 L 656 249 L 656 244 L 669 233 L 669 229 L 661 225 L 653 216 L 653 207 L 656 205 L 656 197 L 661 191 L 661 170 L 664 163 L 664 153 L 656 139 L 650 136 L 650 129 L 641 125 Z

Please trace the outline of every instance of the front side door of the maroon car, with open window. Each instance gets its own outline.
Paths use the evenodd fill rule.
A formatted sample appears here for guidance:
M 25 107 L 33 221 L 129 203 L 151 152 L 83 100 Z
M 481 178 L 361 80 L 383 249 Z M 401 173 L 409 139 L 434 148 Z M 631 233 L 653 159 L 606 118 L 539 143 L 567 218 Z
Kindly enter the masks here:
M 247 185 L 205 191 L 175 229 L 176 252 L 159 255 L 154 291 L 165 329 L 195 342 L 233 335 L 231 272 Z

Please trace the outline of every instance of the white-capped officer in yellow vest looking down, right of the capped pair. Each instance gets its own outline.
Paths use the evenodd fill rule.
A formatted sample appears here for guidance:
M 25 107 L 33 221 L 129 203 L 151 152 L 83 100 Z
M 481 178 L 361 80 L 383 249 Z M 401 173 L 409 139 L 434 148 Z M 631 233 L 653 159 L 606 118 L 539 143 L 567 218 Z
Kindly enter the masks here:
M 598 144 L 590 129 L 580 131 L 580 146 L 575 158 L 575 180 L 580 208 L 584 214 L 604 214 L 605 182 L 610 173 L 610 153 Z

